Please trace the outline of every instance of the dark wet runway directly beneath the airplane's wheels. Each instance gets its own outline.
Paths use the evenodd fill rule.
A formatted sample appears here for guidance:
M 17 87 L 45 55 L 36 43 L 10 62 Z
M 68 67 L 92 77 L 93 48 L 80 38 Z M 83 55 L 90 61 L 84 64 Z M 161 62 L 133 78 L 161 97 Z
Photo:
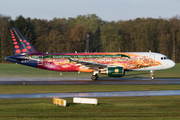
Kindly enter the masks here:
M 59 78 L 16 78 L 0 79 L 1 85 L 153 85 L 153 84 L 180 84 L 180 78 L 99 78 L 91 81 L 89 78 L 59 79 Z

